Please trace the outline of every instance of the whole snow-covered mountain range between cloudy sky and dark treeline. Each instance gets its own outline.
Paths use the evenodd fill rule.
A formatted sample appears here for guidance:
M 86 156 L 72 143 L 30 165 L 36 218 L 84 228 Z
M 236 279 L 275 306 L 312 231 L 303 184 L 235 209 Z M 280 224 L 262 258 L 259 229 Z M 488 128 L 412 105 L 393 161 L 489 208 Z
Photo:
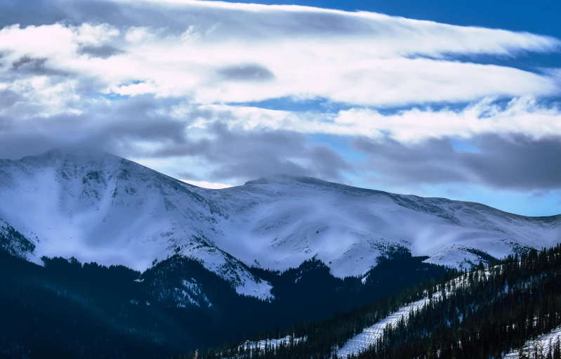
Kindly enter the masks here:
M 75 256 L 145 270 L 181 253 L 263 299 L 271 287 L 248 266 L 286 270 L 315 256 L 343 278 L 395 248 L 463 266 L 561 242 L 561 216 L 306 177 L 206 190 L 107 153 L 64 150 L 0 161 L 0 225 L 32 244 L 18 247 L 30 261 Z

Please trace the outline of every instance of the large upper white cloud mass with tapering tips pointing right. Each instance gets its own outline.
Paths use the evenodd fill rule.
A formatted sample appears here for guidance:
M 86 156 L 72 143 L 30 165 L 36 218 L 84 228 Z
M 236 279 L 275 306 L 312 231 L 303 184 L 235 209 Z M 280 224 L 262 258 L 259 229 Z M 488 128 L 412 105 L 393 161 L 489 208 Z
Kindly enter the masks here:
M 116 2 L 133 6 L 128 0 Z M 48 67 L 93 77 L 107 93 L 185 96 L 202 104 L 294 97 L 385 107 L 560 91 L 551 73 L 449 59 L 451 54 L 557 51 L 560 41 L 550 37 L 303 6 L 199 0 L 140 4 L 184 22 L 184 28 L 13 25 L 0 30 L 0 51 L 8 60 L 48 58 Z M 86 45 L 121 52 L 95 58 L 80 53 Z M 228 81 L 217 76 L 224 67 L 244 64 L 259 65 L 274 77 Z

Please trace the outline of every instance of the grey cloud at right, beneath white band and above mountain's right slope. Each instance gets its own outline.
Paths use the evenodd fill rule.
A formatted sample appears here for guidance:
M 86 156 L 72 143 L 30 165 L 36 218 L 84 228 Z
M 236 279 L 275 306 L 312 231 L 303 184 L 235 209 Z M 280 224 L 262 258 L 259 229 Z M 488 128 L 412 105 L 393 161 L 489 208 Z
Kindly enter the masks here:
M 494 188 L 550 190 L 561 188 L 561 137 L 532 140 L 524 136 L 479 136 L 477 151 L 456 150 L 453 140 L 403 145 L 357 138 L 355 149 L 369 154 L 368 169 L 384 181 L 420 183 L 480 183 Z

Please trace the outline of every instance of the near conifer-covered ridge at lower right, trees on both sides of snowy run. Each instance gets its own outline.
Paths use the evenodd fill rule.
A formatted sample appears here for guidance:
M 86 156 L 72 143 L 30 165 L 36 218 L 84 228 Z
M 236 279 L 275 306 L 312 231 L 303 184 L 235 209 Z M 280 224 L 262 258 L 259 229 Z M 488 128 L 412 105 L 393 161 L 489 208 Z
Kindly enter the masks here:
M 294 327 L 305 337 L 276 348 L 220 349 L 238 358 L 336 358 L 336 348 L 389 313 L 417 299 L 430 301 L 388 326 L 370 348 L 352 358 L 503 358 L 524 342 L 561 325 L 561 246 L 483 263 L 469 273 L 447 273 L 331 320 Z M 535 358 L 561 358 L 559 344 Z M 215 351 L 216 353 L 218 351 Z M 204 358 L 219 358 L 208 353 Z M 524 355 L 521 354 L 521 358 Z M 532 358 L 534 358 L 532 356 Z

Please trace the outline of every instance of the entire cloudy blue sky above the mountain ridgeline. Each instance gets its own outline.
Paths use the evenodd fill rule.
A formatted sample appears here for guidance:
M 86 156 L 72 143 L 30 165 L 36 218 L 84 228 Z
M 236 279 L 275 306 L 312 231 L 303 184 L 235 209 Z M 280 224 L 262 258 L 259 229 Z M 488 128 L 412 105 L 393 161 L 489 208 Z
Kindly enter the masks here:
M 0 0 L 0 158 L 561 213 L 560 1 Z

